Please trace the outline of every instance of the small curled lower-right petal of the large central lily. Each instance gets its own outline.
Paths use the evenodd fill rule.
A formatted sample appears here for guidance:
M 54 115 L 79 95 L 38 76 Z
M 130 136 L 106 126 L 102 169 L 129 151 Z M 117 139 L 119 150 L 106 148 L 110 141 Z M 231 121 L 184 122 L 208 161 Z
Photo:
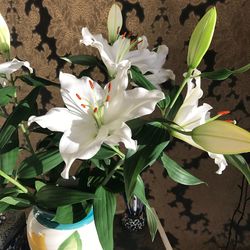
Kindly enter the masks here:
M 137 143 L 132 139 L 131 129 L 125 123 L 123 123 L 121 128 L 113 131 L 105 140 L 105 143 L 109 145 L 116 145 L 119 142 L 123 142 L 126 148 L 136 150 Z

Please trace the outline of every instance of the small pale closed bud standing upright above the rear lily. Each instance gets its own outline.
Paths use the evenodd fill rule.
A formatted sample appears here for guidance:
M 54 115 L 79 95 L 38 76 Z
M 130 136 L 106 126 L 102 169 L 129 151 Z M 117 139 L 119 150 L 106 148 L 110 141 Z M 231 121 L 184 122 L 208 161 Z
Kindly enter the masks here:
M 122 13 L 117 4 L 113 4 L 108 15 L 108 36 L 109 42 L 113 44 L 122 28 Z

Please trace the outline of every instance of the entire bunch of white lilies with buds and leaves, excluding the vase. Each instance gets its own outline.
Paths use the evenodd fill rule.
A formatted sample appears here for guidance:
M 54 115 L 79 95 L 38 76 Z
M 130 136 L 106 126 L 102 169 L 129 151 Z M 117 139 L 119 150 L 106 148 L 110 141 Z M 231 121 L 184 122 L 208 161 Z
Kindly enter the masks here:
M 0 212 L 37 206 L 53 212 L 54 221 L 67 224 L 84 218 L 93 207 L 102 247 L 113 249 L 116 194 L 122 193 L 128 203 L 136 196 L 145 205 L 154 239 L 156 214 L 146 199 L 141 173 L 160 161 L 174 181 L 204 183 L 167 155 L 167 147 L 175 138 L 206 151 L 218 165 L 218 174 L 230 164 L 250 183 L 249 166 L 239 155 L 250 151 L 250 133 L 223 119 L 228 111 L 210 117 L 212 107 L 199 104 L 202 78 L 224 80 L 250 69 L 246 65 L 236 70 L 198 70 L 215 24 L 216 9 L 212 8 L 191 35 L 187 72 L 176 87 L 171 84 L 174 73 L 164 68 L 167 46 L 150 51 L 145 36 L 121 34 L 122 14 L 114 4 L 107 20 L 107 40 L 82 28 L 80 46 L 96 48 L 100 57 L 62 58 L 84 68 L 78 77 L 60 72 L 58 84 L 36 76 L 27 61 L 10 59 L 10 33 L 0 16 L 0 51 L 6 59 L 0 64 Z M 91 78 L 95 67 L 104 74 L 104 82 Z M 22 73 L 15 75 L 16 71 Z M 168 89 L 161 89 L 167 80 Z M 21 100 L 16 85 L 20 81 L 32 86 Z M 65 107 L 39 114 L 38 95 L 48 86 L 60 88 Z M 160 111 L 158 118 L 143 119 L 155 109 Z M 41 135 L 35 148 L 31 133 Z M 20 143 L 20 136 L 25 145 Z M 23 151 L 27 157 L 17 164 Z M 81 162 L 72 167 L 76 159 Z

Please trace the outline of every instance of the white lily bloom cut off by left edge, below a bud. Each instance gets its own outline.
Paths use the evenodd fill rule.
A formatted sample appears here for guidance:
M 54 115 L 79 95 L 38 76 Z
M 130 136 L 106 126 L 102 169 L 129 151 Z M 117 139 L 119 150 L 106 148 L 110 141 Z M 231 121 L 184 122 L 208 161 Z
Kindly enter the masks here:
M 10 62 L 5 62 L 0 64 L 0 75 L 4 75 L 5 77 L 0 76 L 0 84 L 2 86 L 6 85 L 6 79 L 10 80 L 10 75 L 15 71 L 21 69 L 21 67 L 26 67 L 30 73 L 33 73 L 33 69 L 30 67 L 30 63 L 27 61 L 19 61 L 14 58 Z

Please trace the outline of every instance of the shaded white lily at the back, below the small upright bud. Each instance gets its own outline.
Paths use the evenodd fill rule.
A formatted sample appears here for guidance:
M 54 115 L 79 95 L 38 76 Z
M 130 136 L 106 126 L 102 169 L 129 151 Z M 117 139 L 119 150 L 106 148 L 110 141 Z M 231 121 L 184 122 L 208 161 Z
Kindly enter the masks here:
M 131 41 L 125 35 L 119 36 L 110 45 L 101 34 L 92 35 L 86 27 L 82 28 L 82 36 L 81 43 L 99 50 L 111 77 L 116 75 L 119 66 L 124 60 L 129 60 L 131 65 L 137 66 L 143 74 L 149 73 L 145 77 L 152 81 L 153 84 L 157 85 L 168 79 L 174 80 L 175 78 L 172 70 L 162 68 L 168 54 L 166 45 L 160 45 L 157 51 L 149 51 L 145 36 L 138 38 L 136 41 Z

